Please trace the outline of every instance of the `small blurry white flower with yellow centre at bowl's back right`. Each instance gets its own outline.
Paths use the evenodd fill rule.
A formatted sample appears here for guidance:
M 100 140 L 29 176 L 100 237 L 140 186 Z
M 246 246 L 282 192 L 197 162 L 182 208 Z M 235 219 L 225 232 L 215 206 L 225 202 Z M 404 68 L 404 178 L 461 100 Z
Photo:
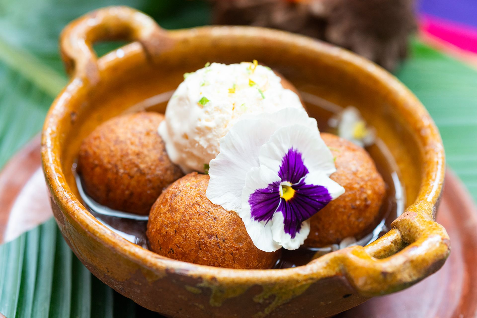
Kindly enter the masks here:
M 360 147 L 374 144 L 375 132 L 364 121 L 359 110 L 346 107 L 338 116 L 333 117 L 330 126 L 338 129 L 338 135 Z

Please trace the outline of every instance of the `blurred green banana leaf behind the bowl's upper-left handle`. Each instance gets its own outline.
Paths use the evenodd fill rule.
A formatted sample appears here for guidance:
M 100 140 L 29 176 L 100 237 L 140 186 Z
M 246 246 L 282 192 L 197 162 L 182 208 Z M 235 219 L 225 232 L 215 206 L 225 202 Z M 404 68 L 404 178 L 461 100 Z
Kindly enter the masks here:
M 41 130 L 53 98 L 67 82 L 58 37 L 70 21 L 91 10 L 128 5 L 164 28 L 206 24 L 204 1 L 188 0 L 0 0 L 0 168 Z M 117 43 L 95 46 L 99 55 Z

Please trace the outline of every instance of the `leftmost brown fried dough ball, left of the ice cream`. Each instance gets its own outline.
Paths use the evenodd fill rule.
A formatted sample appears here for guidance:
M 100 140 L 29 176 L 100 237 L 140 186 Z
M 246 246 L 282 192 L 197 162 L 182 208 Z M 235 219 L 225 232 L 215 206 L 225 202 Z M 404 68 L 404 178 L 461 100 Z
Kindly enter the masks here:
M 112 209 L 147 215 L 163 188 L 184 174 L 172 164 L 157 133 L 164 116 L 141 112 L 114 117 L 80 146 L 84 190 Z

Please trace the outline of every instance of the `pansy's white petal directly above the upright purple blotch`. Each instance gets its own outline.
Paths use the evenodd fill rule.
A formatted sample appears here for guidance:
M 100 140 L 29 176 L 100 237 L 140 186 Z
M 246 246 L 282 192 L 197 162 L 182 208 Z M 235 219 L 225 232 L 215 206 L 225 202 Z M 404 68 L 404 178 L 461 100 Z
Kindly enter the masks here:
M 300 124 L 280 128 L 270 137 L 270 141 L 260 149 L 260 165 L 278 172 L 282 159 L 290 148 L 301 153 L 303 163 L 310 173 L 321 171 L 331 175 L 336 171 L 333 155 L 320 133 Z

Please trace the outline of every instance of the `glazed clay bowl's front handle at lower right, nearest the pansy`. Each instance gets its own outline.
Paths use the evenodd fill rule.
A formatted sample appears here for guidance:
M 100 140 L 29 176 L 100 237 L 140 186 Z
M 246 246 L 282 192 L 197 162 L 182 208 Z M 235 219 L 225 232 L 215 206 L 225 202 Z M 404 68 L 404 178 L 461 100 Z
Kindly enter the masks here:
M 340 264 L 338 275 L 347 277 L 365 297 L 410 287 L 442 267 L 450 253 L 449 236 L 444 226 L 434 221 L 434 212 L 432 202 L 418 201 L 394 220 L 392 229 L 379 240 L 344 248 L 334 256 L 330 253 L 328 262 Z

